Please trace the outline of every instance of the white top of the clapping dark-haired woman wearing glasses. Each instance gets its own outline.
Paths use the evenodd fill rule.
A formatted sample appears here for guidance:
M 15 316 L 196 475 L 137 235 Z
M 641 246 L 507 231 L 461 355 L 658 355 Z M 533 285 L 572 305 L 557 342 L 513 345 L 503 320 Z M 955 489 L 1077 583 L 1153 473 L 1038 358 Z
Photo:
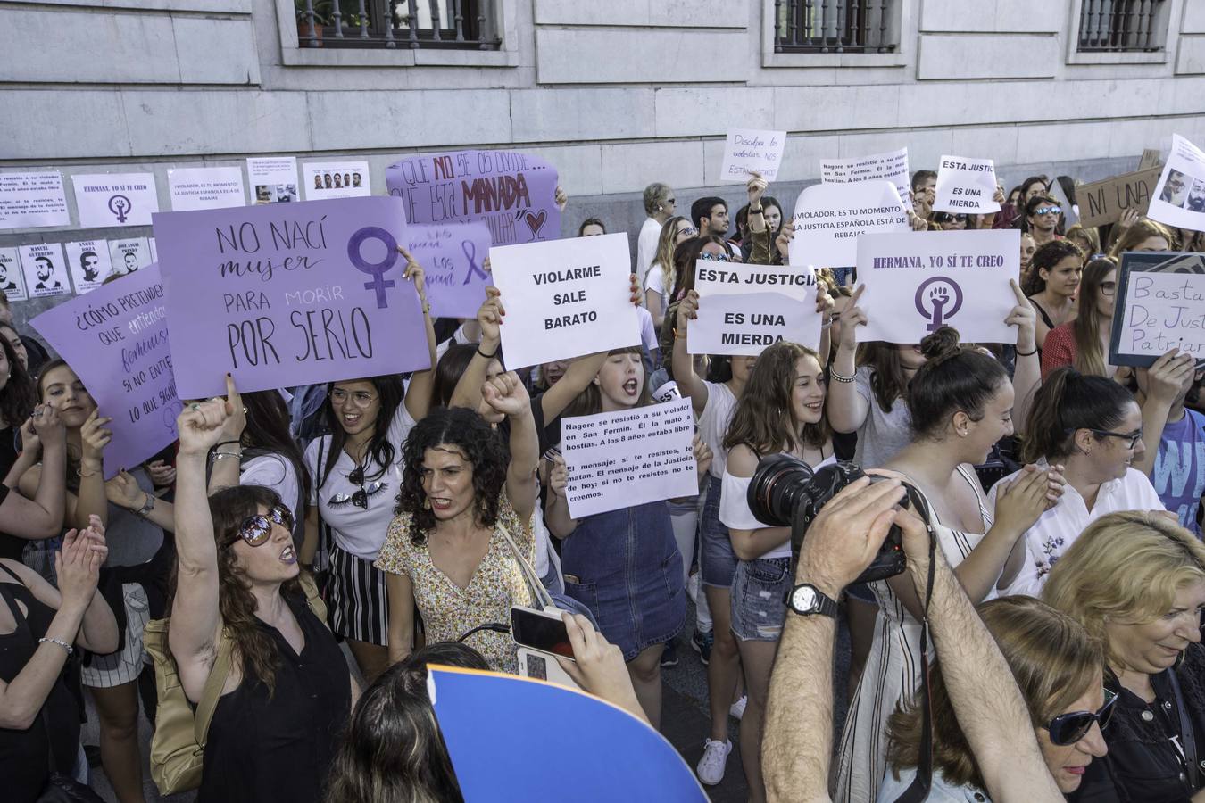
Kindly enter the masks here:
M 1045 459 L 1038 461 L 1038 467 L 1046 470 L 1050 464 Z M 1022 470 L 1023 471 L 1023 470 Z M 987 506 L 995 508 L 995 497 L 1000 483 L 1012 482 L 1021 472 L 1009 474 L 992 486 L 987 495 Z M 1088 509 L 1080 491 L 1068 484 L 1063 496 L 1050 510 L 1042 513 L 1038 521 L 1025 532 L 1025 561 L 1009 588 L 1000 596 L 1025 594 L 1031 597 L 1041 595 L 1051 565 L 1058 561 L 1083 529 L 1107 513 L 1118 510 L 1163 510 L 1159 495 L 1146 474 L 1136 468 L 1127 468 L 1121 479 L 1111 479 L 1097 492 L 1097 503 Z

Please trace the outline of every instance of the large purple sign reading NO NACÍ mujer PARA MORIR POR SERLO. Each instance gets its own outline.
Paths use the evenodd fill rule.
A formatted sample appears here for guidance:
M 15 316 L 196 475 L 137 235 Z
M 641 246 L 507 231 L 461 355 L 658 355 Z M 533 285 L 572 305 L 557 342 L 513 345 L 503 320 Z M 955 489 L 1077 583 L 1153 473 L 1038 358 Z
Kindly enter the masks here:
M 184 398 L 228 372 L 249 391 L 430 367 L 398 199 L 159 213 L 154 235 Z

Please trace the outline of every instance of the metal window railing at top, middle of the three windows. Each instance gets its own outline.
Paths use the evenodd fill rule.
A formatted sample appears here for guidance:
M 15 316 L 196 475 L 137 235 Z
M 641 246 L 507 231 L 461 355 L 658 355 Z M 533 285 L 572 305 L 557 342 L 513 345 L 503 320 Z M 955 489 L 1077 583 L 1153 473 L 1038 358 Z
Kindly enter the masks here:
M 900 0 L 774 0 L 775 53 L 889 53 Z

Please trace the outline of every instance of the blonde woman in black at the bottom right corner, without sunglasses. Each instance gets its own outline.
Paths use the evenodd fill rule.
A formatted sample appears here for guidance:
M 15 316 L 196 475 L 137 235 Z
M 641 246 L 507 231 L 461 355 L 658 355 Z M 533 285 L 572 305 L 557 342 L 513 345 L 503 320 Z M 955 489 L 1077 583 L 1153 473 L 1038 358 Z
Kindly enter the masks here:
M 1042 600 L 1104 642 L 1109 755 L 1070 799 L 1205 799 L 1205 547 L 1156 513 L 1103 516 L 1051 571 Z M 1058 775 L 1056 775 L 1056 780 Z

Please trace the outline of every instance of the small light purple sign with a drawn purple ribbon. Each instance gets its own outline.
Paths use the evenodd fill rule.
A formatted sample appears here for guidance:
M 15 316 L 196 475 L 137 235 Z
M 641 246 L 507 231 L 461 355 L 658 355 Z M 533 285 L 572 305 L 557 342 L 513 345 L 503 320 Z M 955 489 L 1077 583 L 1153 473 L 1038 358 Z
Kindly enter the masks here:
M 486 288 L 493 283 L 483 262 L 489 256 L 484 223 L 406 226 L 410 253 L 427 271 L 427 300 L 436 318 L 476 318 Z

